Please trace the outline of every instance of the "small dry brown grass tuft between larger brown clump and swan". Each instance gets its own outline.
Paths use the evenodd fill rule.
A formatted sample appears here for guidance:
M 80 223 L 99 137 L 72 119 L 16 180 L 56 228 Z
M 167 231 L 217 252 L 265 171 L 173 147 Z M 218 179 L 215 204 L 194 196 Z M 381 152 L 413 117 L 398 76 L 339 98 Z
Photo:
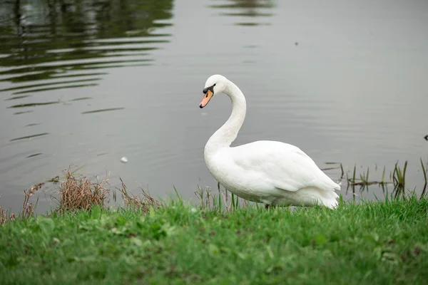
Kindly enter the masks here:
M 151 207 L 156 209 L 163 207 L 162 202 L 151 197 L 150 193 L 144 191 L 143 189 L 141 189 L 142 195 L 133 195 L 133 193 L 128 190 L 128 187 L 126 187 L 125 183 L 123 183 L 122 178 L 120 179 L 122 182 L 122 187 L 118 188 L 118 190 L 121 192 L 123 202 L 125 203 L 126 207 L 135 209 L 136 211 L 141 211 L 143 213 L 148 212 Z

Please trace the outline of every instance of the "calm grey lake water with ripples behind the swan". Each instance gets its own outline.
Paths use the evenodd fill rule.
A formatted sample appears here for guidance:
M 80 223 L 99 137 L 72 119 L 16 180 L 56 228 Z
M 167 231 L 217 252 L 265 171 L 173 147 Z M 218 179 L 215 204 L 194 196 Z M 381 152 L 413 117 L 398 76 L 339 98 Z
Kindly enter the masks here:
M 230 100 L 198 108 L 214 73 L 247 98 L 233 145 L 289 142 L 321 168 L 356 164 L 377 179 L 408 160 L 408 187 L 423 185 L 428 1 L 1 3 L 3 207 L 19 210 L 23 190 L 69 165 L 158 197 L 173 185 L 186 198 L 198 185 L 216 188 L 203 148 Z M 39 190 L 39 210 L 56 190 Z M 372 193 L 382 190 L 358 197 Z

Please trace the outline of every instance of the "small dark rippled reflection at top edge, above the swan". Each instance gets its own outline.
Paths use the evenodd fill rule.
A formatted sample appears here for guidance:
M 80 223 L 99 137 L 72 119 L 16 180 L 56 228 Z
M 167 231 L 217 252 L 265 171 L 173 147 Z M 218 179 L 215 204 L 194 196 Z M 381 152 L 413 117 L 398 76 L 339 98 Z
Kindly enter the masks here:
M 222 11 L 220 15 L 234 16 L 237 26 L 263 26 L 269 25 L 265 19 L 273 15 L 275 3 L 273 0 L 228 0 L 210 7 Z

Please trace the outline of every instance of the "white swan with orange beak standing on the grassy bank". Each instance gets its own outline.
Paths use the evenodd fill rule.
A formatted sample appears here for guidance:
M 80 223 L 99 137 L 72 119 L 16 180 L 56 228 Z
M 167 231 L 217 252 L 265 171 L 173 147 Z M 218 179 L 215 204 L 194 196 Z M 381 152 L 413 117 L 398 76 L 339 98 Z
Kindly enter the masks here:
M 203 88 L 199 107 L 213 96 L 225 93 L 232 101 L 232 114 L 205 145 L 205 163 L 225 189 L 243 199 L 270 206 L 313 206 L 334 209 L 340 185 L 325 175 L 298 147 L 284 142 L 259 140 L 230 147 L 243 125 L 247 105 L 241 90 L 224 76 L 213 75 Z

